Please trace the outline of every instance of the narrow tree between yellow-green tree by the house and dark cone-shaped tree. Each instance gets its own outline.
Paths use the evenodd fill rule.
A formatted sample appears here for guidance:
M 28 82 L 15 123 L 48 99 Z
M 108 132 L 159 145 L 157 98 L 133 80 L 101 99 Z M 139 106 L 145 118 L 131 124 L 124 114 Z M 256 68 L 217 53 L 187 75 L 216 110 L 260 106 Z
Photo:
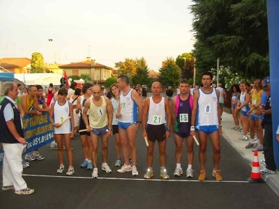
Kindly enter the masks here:
M 144 57 L 136 59 L 137 74 L 132 78 L 133 84 L 151 86 L 153 79 L 149 77 L 149 68 Z

